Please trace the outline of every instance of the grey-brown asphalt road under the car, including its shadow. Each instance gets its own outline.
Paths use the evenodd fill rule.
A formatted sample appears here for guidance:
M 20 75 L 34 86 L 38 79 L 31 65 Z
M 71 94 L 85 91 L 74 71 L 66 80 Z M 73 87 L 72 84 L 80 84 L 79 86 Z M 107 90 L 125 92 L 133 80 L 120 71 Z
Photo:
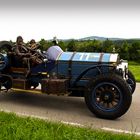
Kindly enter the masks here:
M 121 129 L 140 134 L 140 83 L 137 83 L 130 109 L 116 120 L 104 120 L 95 117 L 88 110 L 84 98 L 44 94 L 1 93 L 0 110 L 91 128 Z

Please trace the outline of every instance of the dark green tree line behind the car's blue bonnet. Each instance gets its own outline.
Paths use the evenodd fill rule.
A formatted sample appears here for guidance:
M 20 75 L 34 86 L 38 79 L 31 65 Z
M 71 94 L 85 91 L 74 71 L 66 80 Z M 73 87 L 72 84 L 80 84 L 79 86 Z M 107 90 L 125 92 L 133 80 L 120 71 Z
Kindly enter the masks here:
M 41 49 L 47 50 L 52 41 L 41 39 Z M 121 59 L 140 62 L 140 40 L 59 40 L 64 51 L 119 53 Z

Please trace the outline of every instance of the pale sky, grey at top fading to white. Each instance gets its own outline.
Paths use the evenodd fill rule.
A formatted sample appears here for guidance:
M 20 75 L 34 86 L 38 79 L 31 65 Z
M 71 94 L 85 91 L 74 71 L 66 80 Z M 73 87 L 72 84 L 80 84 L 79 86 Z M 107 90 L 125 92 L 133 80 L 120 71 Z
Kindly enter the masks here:
M 0 40 L 140 38 L 139 0 L 0 1 Z

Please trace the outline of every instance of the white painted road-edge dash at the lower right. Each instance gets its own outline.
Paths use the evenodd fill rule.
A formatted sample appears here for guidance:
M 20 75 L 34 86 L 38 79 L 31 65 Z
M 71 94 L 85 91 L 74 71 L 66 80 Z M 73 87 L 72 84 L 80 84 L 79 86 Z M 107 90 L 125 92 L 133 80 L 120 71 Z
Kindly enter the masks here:
M 117 133 L 140 135 L 140 132 L 133 132 L 133 131 L 127 131 L 127 130 L 121 130 L 121 129 L 114 129 L 114 128 L 108 128 L 108 127 L 103 127 L 101 129 L 105 131 L 111 131 L 111 132 L 117 132 Z

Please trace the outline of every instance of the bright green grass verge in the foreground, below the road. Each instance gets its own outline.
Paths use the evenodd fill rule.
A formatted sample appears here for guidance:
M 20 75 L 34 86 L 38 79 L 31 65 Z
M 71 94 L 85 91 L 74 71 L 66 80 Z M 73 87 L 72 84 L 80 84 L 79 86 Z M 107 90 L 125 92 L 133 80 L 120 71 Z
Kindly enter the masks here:
M 135 135 L 80 128 L 0 112 L 1 140 L 140 140 Z

